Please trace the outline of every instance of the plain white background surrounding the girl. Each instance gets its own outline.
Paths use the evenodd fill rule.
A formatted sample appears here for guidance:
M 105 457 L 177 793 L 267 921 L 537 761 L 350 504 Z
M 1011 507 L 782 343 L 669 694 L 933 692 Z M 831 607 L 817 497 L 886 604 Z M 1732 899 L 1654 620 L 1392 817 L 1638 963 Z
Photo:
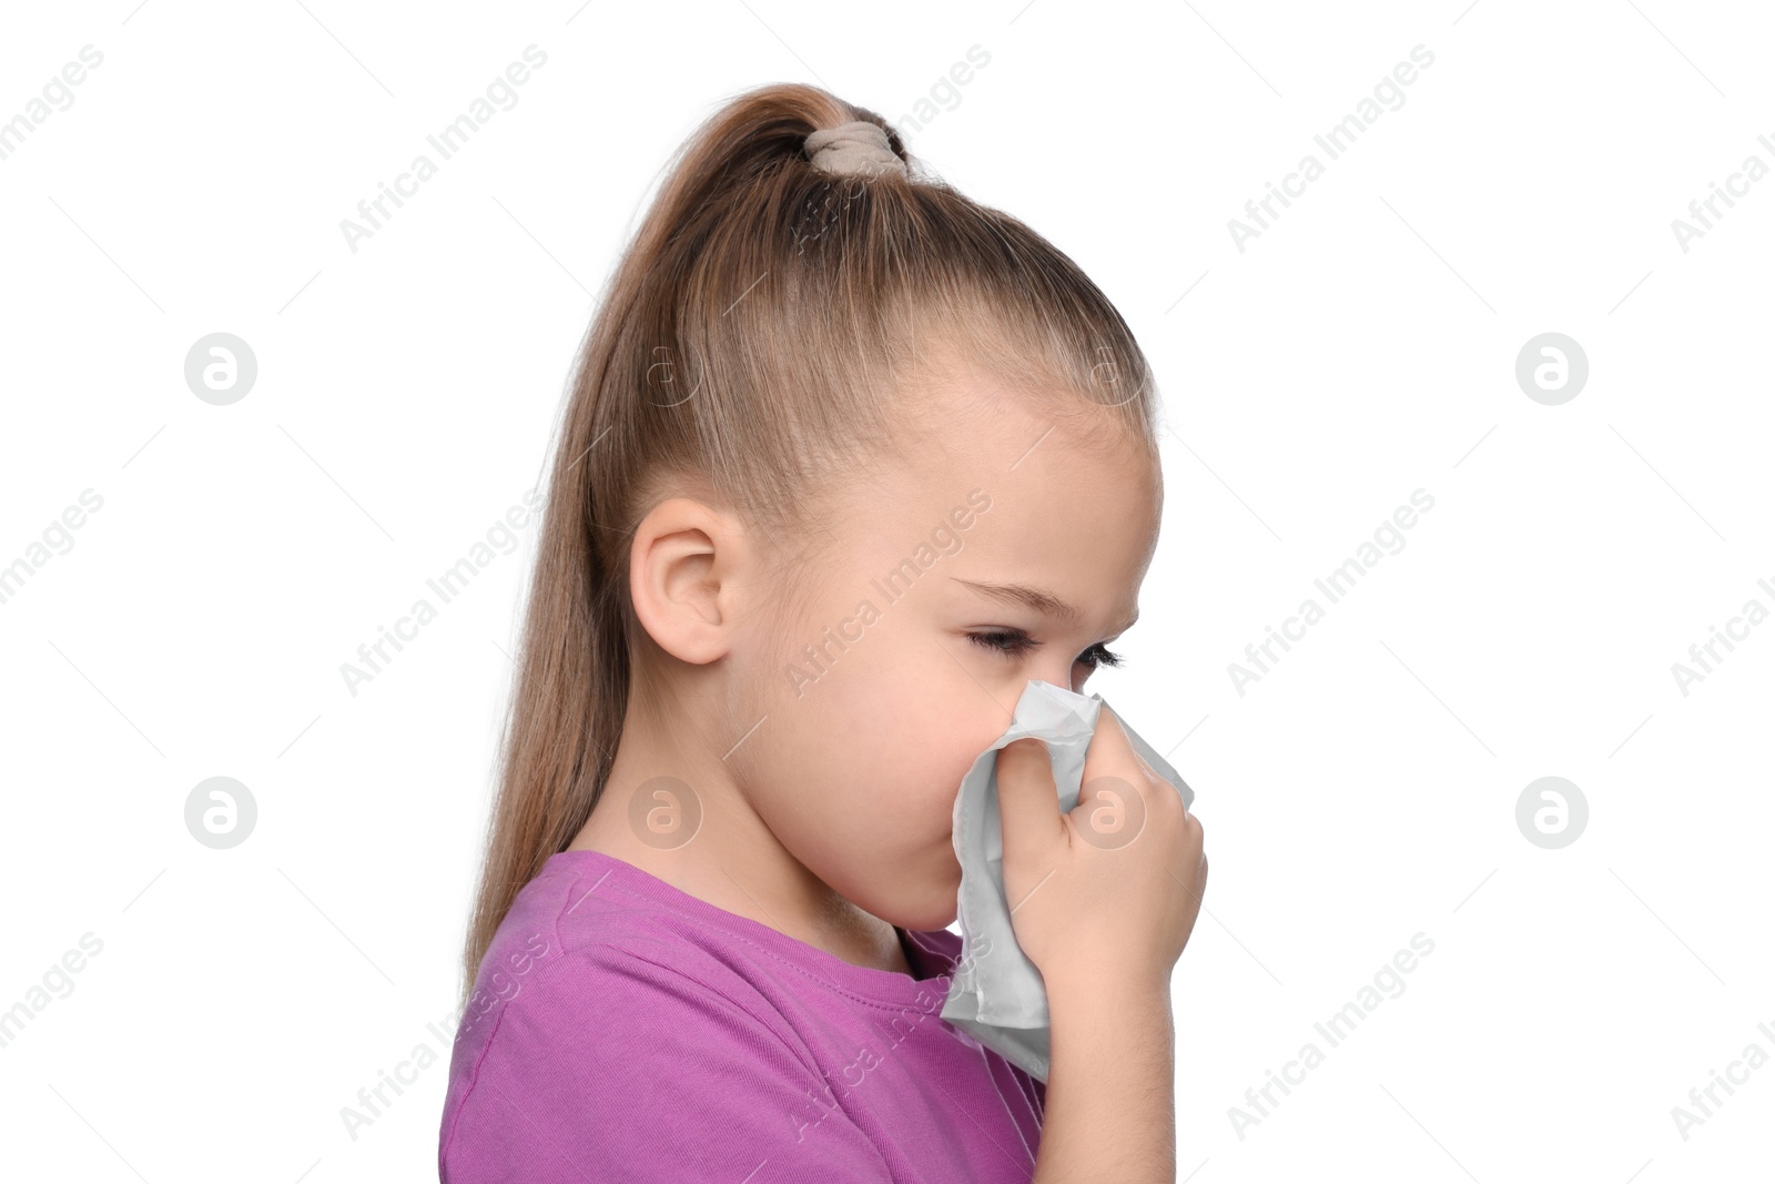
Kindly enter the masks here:
M 1686 252 L 1672 220 L 1775 165 L 1775 21 L 1463 4 L 9 5 L 0 119 L 103 64 L 0 160 L 0 564 L 103 508 L 0 604 L 0 1008 L 103 951 L 0 1047 L 0 1173 L 435 1175 L 446 1056 L 357 1138 L 341 1108 L 440 1051 L 534 527 L 355 696 L 339 666 L 540 481 L 660 167 L 777 80 L 889 121 L 935 87 L 909 151 L 1076 257 L 1157 367 L 1163 541 L 1092 689 L 1207 827 L 1179 1175 L 1766 1173 L 1775 1065 L 1686 1140 L 1672 1108 L 1775 1054 L 1775 623 L 1686 696 L 1672 664 L 1775 609 L 1775 178 Z M 529 44 L 517 107 L 351 252 L 341 218 Z M 1329 160 L 1314 135 L 1418 44 Z M 1241 252 L 1228 220 L 1306 153 L 1324 176 Z M 185 383 L 211 332 L 257 357 L 229 407 Z M 1590 366 L 1557 407 L 1514 376 L 1542 332 Z M 259 808 L 231 850 L 185 827 L 211 776 Z M 1589 802 L 1558 850 L 1516 824 L 1542 776 Z M 1331 1047 L 1314 1024 L 1418 932 Z

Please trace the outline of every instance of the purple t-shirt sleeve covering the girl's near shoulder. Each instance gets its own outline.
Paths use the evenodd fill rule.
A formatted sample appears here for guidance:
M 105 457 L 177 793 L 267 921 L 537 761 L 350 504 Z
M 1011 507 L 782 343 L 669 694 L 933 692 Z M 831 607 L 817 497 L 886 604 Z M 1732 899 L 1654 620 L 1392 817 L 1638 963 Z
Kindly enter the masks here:
M 891 1184 L 786 1028 L 674 957 L 589 944 L 488 1015 L 440 1182 Z

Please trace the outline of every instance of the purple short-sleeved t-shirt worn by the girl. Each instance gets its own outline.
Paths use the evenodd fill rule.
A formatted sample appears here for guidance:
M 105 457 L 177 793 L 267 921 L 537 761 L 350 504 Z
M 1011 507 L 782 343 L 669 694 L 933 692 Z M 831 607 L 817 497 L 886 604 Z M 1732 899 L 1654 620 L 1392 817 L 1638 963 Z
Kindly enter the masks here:
M 1026 1184 L 1045 1088 L 852 966 L 596 850 L 550 856 L 481 960 L 438 1133 L 446 1184 Z

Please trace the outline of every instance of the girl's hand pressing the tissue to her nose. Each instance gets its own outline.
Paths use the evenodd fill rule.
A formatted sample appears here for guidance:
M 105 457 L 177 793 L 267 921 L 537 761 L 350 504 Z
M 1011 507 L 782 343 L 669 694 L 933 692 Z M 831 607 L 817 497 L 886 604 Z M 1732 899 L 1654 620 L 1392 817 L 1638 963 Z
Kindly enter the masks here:
M 1207 888 L 1202 822 L 1109 708 L 1097 712 L 1070 815 L 1033 737 L 999 751 L 998 792 L 1012 932 L 1044 982 L 1166 983 Z

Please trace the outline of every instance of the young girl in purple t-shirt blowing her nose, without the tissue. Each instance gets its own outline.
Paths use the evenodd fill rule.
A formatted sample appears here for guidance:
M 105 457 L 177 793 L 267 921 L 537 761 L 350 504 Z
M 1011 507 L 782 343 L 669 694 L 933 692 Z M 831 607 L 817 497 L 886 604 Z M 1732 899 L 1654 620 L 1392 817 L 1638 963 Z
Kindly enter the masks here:
M 1074 815 L 1040 740 L 999 756 L 1049 1079 L 937 1015 L 957 788 L 1030 680 L 1120 660 L 1156 419 L 1104 295 L 873 112 L 774 85 L 698 130 L 556 451 L 444 1180 L 1173 1179 L 1202 825 L 1108 710 Z

